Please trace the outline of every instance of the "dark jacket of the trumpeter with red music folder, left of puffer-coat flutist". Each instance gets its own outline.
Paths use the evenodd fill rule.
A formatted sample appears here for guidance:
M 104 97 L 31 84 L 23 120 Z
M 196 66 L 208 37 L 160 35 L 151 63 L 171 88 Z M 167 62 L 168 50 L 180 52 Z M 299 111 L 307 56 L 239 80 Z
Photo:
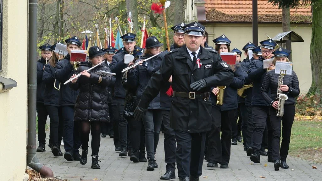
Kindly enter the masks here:
M 72 90 L 68 84 L 64 85 L 64 82 L 68 81 L 75 74 L 73 65 L 69 61 L 70 57 L 68 54 L 56 64 L 55 79 L 61 82 L 59 106 L 74 106 L 79 92 L 79 90 Z

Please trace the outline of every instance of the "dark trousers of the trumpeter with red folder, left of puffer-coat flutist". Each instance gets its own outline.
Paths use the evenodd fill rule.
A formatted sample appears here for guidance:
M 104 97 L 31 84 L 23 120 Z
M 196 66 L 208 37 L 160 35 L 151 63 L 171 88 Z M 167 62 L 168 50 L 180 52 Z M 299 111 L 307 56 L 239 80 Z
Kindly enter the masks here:
M 81 140 L 79 123 L 74 121 L 74 106 L 62 106 L 60 109 L 64 121 L 63 140 L 65 151 L 73 152 L 76 155 L 81 148 Z

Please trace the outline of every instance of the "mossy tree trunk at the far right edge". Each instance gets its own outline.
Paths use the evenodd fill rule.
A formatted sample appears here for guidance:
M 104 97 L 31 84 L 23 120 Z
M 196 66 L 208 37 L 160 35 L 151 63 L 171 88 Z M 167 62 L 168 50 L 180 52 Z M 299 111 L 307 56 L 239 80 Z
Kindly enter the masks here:
M 311 4 L 312 9 L 312 37 L 310 45 L 310 59 L 312 70 L 312 84 L 309 93 L 321 93 L 322 90 L 322 0 Z

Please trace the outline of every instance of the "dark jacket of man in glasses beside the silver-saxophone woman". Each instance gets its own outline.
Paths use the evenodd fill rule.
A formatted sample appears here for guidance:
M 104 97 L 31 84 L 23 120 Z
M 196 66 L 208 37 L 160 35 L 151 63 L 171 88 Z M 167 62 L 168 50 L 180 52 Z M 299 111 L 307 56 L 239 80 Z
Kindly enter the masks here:
M 263 60 L 261 56 L 258 60 L 253 60 L 248 71 L 248 77 L 254 82 L 251 106 L 269 106 L 260 93 L 264 77 L 267 73 L 267 69 L 263 69 Z M 270 91 L 268 94 L 270 95 Z

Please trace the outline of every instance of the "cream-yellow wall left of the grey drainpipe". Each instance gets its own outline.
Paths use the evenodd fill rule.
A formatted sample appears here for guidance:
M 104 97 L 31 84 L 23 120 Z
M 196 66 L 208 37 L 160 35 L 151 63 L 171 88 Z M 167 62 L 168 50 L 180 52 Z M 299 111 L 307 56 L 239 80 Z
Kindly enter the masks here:
M 3 3 L 4 71 L 0 75 L 17 81 L 18 86 L 0 93 L 0 180 L 22 181 L 27 145 L 28 1 Z

